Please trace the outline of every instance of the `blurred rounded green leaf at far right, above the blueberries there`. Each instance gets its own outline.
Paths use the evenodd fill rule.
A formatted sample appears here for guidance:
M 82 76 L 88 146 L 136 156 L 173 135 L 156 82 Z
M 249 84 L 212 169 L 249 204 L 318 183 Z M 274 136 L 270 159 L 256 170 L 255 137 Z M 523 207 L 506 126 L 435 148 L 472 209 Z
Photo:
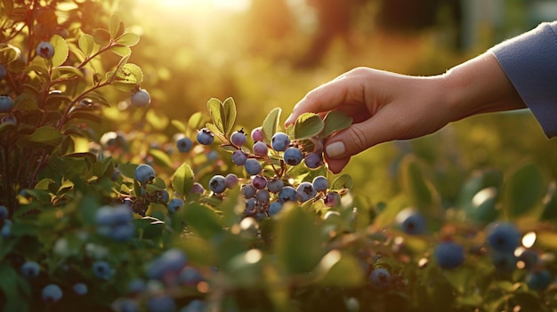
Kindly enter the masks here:
M 504 186 L 504 211 L 514 219 L 537 212 L 545 193 L 545 179 L 537 164 L 521 164 L 509 173 Z M 541 206 L 540 206 L 541 208 Z

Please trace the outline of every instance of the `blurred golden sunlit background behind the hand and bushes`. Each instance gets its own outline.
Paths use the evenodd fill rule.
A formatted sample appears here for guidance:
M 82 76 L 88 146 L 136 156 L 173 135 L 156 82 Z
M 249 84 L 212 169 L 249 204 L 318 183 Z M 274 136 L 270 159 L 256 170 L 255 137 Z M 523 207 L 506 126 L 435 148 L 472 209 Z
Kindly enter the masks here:
M 306 92 L 351 68 L 436 75 L 493 44 L 557 19 L 557 1 L 535 0 L 120 0 L 115 10 L 141 35 L 139 64 L 152 104 L 149 123 L 113 122 L 122 131 L 177 132 L 232 97 L 238 127 L 260 125 L 272 108 L 281 121 Z M 139 112 L 137 114 L 145 114 Z M 110 116 L 110 115 L 109 115 Z M 130 127 L 130 129 L 125 129 Z M 472 116 L 424 138 L 383 143 L 353 157 L 354 192 L 375 202 L 400 191 L 398 164 L 420 159 L 450 206 L 478 169 L 507 171 L 526 160 L 557 177 L 557 140 L 528 110 Z

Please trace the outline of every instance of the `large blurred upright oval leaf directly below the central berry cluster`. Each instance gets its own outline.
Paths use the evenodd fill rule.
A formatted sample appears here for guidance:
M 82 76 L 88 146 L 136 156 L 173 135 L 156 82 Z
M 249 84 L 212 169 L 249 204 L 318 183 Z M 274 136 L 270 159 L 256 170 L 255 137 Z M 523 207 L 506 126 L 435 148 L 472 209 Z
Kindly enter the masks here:
M 293 206 L 283 211 L 278 221 L 276 253 L 283 267 L 292 274 L 310 272 L 323 255 L 323 242 L 314 218 L 311 212 Z

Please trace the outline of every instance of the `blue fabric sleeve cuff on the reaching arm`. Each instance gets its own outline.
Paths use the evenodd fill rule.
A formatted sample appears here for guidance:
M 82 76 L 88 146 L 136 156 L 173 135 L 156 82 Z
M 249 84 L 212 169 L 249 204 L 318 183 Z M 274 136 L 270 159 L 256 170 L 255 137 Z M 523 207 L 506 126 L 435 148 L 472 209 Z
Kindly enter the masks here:
M 557 136 L 557 21 L 542 23 L 489 51 L 545 135 Z

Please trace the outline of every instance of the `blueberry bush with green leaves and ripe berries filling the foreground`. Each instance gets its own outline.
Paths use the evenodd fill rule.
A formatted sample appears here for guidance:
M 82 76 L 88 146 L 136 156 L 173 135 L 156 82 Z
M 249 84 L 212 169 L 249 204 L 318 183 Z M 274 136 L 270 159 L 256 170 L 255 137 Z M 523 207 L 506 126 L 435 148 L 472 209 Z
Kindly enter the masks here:
M 250 130 L 213 98 L 172 136 L 98 133 L 114 107 L 149 109 L 140 36 L 108 13 L 92 27 L 107 3 L 1 4 L 0 310 L 557 308 L 544 167 L 472 172 L 447 207 L 408 155 L 403 192 L 375 203 L 323 162 L 340 112 L 283 129 L 274 108 Z

